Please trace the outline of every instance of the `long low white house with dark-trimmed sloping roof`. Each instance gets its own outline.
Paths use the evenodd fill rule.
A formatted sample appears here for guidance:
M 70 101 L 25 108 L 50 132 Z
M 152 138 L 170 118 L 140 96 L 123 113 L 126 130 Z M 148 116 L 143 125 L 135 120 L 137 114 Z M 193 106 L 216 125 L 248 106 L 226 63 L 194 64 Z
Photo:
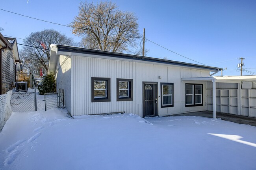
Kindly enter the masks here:
M 220 70 L 65 45 L 51 45 L 49 65 L 72 116 L 126 112 L 145 117 L 208 110 L 209 80 L 182 78 L 206 78 Z

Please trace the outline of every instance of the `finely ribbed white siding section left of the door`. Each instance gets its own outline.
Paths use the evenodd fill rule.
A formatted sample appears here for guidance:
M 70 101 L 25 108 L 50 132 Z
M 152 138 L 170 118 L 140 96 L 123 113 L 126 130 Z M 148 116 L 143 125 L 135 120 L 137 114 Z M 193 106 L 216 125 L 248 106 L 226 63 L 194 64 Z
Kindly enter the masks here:
M 72 70 L 72 101 L 74 107 L 72 110 L 72 115 L 78 116 L 84 114 L 100 114 L 124 111 L 126 113 L 135 113 L 142 116 L 142 102 L 136 101 L 139 94 L 141 93 L 137 93 L 137 89 L 135 88 L 138 85 L 135 78 L 136 67 L 134 62 L 87 58 L 79 56 L 73 56 L 73 60 L 74 62 L 72 62 L 72 68 L 74 69 Z M 110 102 L 91 102 L 92 77 L 111 79 Z M 117 101 L 117 78 L 127 78 L 134 80 L 133 101 Z

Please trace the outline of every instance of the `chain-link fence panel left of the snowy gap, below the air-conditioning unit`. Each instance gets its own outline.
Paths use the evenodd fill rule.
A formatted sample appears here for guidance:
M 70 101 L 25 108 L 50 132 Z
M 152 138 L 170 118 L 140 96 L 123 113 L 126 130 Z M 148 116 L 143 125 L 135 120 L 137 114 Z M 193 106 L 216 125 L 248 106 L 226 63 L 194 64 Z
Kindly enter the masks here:
M 35 92 L 18 92 L 11 95 L 11 109 L 13 112 L 27 112 L 37 110 Z

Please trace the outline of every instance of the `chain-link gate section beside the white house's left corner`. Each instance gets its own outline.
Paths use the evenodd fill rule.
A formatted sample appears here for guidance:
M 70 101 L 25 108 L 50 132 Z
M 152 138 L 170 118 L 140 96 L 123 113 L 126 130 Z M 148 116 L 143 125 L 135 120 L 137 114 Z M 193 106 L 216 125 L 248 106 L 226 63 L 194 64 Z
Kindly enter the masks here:
M 45 93 L 45 111 L 56 108 L 64 108 L 64 90 L 59 89 L 58 93 Z

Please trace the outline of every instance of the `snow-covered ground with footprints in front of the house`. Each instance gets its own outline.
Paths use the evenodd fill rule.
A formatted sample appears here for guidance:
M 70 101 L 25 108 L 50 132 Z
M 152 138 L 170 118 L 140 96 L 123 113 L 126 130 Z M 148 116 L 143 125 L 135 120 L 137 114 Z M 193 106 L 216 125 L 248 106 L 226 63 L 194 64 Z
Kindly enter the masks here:
M 0 133 L 3 170 L 256 169 L 256 127 L 195 116 L 13 112 Z

